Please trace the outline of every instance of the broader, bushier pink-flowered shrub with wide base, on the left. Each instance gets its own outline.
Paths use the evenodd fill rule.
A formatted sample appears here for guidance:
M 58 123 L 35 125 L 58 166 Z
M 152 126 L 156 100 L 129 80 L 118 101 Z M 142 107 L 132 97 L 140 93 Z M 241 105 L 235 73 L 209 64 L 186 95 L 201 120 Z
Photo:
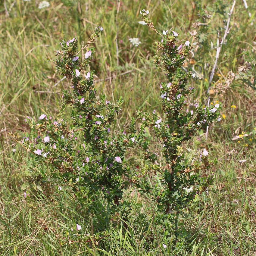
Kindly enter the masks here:
M 120 204 L 129 185 L 126 177 L 130 175 L 129 166 L 124 165 L 125 152 L 135 147 L 144 135 L 143 132 L 135 135 L 134 118 L 129 130 L 119 130 L 116 134 L 111 131 L 116 115 L 122 110 L 123 99 L 112 102 L 105 95 L 98 97 L 94 71 L 88 70 L 94 53 L 91 45 L 101 30 L 102 27 L 96 27 L 79 52 L 76 38 L 61 42 L 61 49 L 55 51 L 58 58 L 53 63 L 60 75 L 70 80 L 71 88 L 64 91 L 55 120 L 49 113 L 41 114 L 37 120 L 25 119 L 31 135 L 24 137 L 21 145 L 32 156 L 34 169 L 51 181 L 57 192 L 72 189 L 78 200 L 88 204 L 105 198 L 108 208 L 115 212 L 126 207 L 125 203 Z M 79 56 L 82 50 L 86 51 L 83 59 Z M 68 105 L 72 111 L 66 119 Z

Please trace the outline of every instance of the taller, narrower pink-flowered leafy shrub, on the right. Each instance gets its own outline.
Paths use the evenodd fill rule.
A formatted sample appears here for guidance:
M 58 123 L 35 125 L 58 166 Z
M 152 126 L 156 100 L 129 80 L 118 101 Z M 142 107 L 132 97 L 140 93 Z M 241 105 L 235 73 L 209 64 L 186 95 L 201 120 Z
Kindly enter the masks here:
M 149 126 L 162 145 L 164 164 L 156 164 L 155 154 L 150 153 L 150 143 L 146 140 L 141 147 L 145 159 L 152 162 L 147 166 L 147 172 L 154 170 L 158 183 L 152 188 L 151 197 L 158 209 L 158 217 L 164 225 L 168 220 L 177 220 L 179 213 L 186 204 L 193 201 L 196 194 L 208 192 L 213 183 L 213 173 L 207 172 L 216 159 L 208 158 L 208 151 L 202 149 L 198 161 L 191 163 L 186 159 L 183 145 L 199 130 L 206 129 L 209 123 L 220 121 L 221 106 L 204 107 L 199 103 L 190 103 L 195 92 L 189 86 L 189 81 L 195 77 L 191 69 L 183 68 L 185 58 L 189 55 L 191 44 L 176 42 L 178 33 L 173 29 L 159 33 L 148 16 L 148 11 L 142 10 L 142 20 L 148 27 L 161 36 L 160 42 L 154 42 L 157 52 L 154 63 L 157 69 L 165 73 L 166 81 L 160 84 L 163 113 L 155 110 L 149 113 L 138 111 L 142 126 Z M 138 186 L 140 186 L 138 184 Z

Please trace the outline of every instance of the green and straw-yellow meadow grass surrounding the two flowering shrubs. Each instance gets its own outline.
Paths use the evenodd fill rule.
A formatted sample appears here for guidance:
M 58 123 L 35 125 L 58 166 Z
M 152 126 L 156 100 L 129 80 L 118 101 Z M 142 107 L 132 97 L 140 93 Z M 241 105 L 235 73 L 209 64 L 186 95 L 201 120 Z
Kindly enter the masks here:
M 105 233 L 95 236 L 94 230 L 98 227 L 92 226 L 86 205 L 81 207 L 68 192 L 57 194 L 51 184 L 43 183 L 40 176 L 30 170 L 26 153 L 16 148 L 8 132 L 12 130 L 22 138 L 28 129 L 24 117 L 38 117 L 42 112 L 55 116 L 61 91 L 69 88 L 69 84 L 67 80 L 61 80 L 45 57 L 54 58 L 54 50 L 63 38 L 77 36 L 82 46 L 95 25 L 104 27 L 102 36 L 95 43 L 97 52 L 91 68 L 98 76 L 95 83 L 99 93 L 105 93 L 111 99 L 123 95 L 123 114 L 117 120 L 122 128 L 128 126 L 138 108 L 161 111 L 158 85 L 164 77 L 151 61 L 155 51 L 153 41 L 158 38 L 138 23 L 139 10 L 150 10 L 158 30 L 174 27 L 180 33 L 180 40 L 198 41 L 189 33 L 196 29 L 192 23 L 201 18 L 197 15 L 197 7 L 193 12 L 194 2 L 72 2 L 51 1 L 50 7 L 42 10 L 33 0 L 4 0 L 0 3 L 0 254 L 256 255 L 255 133 L 232 140 L 242 132 L 254 131 L 256 93 L 238 80 L 234 80 L 225 92 L 214 87 L 210 97 L 210 102 L 222 102 L 222 113 L 226 118 L 210 126 L 207 140 L 205 131 L 198 134 L 201 139 L 199 148 L 195 147 L 195 138 L 185 145 L 188 154 L 205 147 L 219 161 L 214 170 L 214 188 L 218 192 L 212 193 L 210 189 L 209 198 L 199 197 L 185 209 L 188 218 L 184 219 L 184 226 L 190 235 L 186 241 L 170 240 L 168 244 L 164 241 L 167 244 L 164 249 L 154 231 L 157 223 L 152 219 L 148 198 L 137 192 L 127 195 L 132 200 L 128 220 L 132 224 L 128 229 L 118 225 L 120 219 L 117 216 L 116 220 L 110 220 Z M 204 11 L 212 14 L 215 1 L 199 2 Z M 232 2 L 223 2 L 223 10 L 227 13 Z M 237 1 L 214 84 L 223 83 L 231 70 L 237 73 L 238 67 L 244 64 L 245 51 L 255 56 L 256 8 L 253 0 L 247 2 L 252 18 L 249 19 L 243 2 Z M 197 90 L 196 99 L 204 104 L 209 97 L 206 94 L 208 78 L 216 52 L 207 45 L 211 41 L 216 44 L 216 29 L 223 34 L 223 20 L 227 19 L 221 14 L 223 10 L 213 15 L 207 31 L 199 27 L 197 31 L 205 33 L 208 40 L 202 48 L 194 50 L 195 58 L 191 56 L 195 61 L 192 67 L 202 76 L 191 85 Z M 251 22 L 254 25 L 250 25 Z M 129 37 L 138 37 L 142 43 L 132 47 Z M 157 144 L 155 147 L 158 150 Z M 139 157 L 130 160 L 141 166 Z M 23 191 L 30 194 L 26 200 Z M 76 223 L 82 224 L 79 233 L 75 231 Z M 67 232 L 72 241 L 67 239 Z

